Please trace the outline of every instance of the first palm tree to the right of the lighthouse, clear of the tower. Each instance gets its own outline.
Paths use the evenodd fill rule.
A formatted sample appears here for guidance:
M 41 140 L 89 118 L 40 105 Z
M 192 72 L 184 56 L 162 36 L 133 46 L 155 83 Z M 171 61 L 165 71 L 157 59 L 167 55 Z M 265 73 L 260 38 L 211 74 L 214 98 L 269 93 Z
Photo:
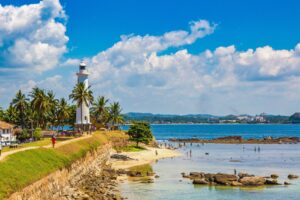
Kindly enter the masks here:
M 104 96 L 98 97 L 98 99 L 92 104 L 92 114 L 95 117 L 96 122 L 104 125 L 108 115 L 108 103 L 109 99 L 106 99 Z

